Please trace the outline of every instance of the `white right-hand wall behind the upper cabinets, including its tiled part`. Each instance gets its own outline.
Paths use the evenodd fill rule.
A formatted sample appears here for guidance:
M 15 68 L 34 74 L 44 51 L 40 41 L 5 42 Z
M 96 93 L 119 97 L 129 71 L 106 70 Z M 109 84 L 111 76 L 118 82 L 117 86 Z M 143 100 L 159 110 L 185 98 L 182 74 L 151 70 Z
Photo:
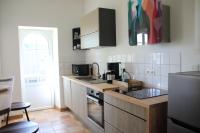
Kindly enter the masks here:
M 85 14 L 97 7 L 113 8 L 116 9 L 117 20 L 117 47 L 89 50 L 86 52 L 86 62 L 97 61 L 100 63 L 101 73 L 106 70 L 108 61 L 124 62 L 132 74 L 138 74 L 142 67 L 141 80 L 148 82 L 150 77 L 152 83 L 154 78 L 158 77 L 160 83 L 156 84 L 160 85 L 161 82 L 164 82 L 163 87 L 166 89 L 168 72 L 197 70 L 197 65 L 200 63 L 200 50 L 197 47 L 200 46 L 200 41 L 195 36 L 196 29 L 198 28 L 200 31 L 200 26 L 198 26 L 199 21 L 196 21 L 195 15 L 199 15 L 200 10 L 198 9 L 198 13 L 195 13 L 195 0 L 165 0 L 165 3 L 171 8 L 171 43 L 136 47 L 128 44 L 127 2 L 128 0 L 84 0 Z M 153 55 L 156 53 L 159 55 L 156 60 L 160 60 L 158 68 L 155 67 L 156 64 L 152 63 Z M 138 65 L 140 66 L 138 67 Z M 178 66 L 180 67 L 178 68 Z M 172 67 L 176 67 L 176 69 Z M 153 71 L 159 69 L 153 80 L 152 75 L 146 74 L 147 69 L 153 69 Z

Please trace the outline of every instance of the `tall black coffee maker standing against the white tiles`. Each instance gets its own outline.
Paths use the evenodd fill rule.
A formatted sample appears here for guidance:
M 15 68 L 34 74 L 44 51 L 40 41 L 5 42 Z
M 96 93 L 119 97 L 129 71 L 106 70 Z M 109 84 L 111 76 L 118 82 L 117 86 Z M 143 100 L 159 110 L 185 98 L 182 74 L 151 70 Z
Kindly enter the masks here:
M 107 63 L 107 70 L 115 74 L 116 80 L 121 80 L 121 62 Z

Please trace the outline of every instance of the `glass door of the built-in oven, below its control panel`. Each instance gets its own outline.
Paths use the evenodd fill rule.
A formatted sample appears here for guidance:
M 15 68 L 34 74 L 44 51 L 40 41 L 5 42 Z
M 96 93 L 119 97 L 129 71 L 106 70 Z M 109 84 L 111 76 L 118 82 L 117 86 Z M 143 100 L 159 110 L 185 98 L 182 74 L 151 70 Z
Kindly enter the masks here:
M 88 118 L 104 128 L 103 100 L 87 95 Z

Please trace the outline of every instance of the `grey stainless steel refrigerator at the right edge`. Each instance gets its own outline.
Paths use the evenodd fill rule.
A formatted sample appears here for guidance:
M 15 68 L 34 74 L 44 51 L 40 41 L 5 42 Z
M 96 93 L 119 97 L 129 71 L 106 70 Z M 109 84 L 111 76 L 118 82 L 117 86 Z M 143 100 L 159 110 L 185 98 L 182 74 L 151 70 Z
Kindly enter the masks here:
M 200 133 L 200 72 L 169 74 L 168 133 Z

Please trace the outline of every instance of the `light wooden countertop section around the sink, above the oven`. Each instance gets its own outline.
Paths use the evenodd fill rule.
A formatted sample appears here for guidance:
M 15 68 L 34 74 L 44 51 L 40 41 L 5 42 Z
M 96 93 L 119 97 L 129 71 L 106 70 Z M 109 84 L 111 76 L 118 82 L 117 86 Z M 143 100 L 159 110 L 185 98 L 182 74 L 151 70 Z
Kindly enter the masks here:
M 77 84 L 83 85 L 85 87 L 94 89 L 96 91 L 104 92 L 106 90 L 112 90 L 114 88 L 119 88 L 117 85 L 108 84 L 108 83 L 99 83 L 99 84 L 91 84 L 89 82 L 76 79 L 78 76 L 63 76 L 63 78 L 71 80 Z

